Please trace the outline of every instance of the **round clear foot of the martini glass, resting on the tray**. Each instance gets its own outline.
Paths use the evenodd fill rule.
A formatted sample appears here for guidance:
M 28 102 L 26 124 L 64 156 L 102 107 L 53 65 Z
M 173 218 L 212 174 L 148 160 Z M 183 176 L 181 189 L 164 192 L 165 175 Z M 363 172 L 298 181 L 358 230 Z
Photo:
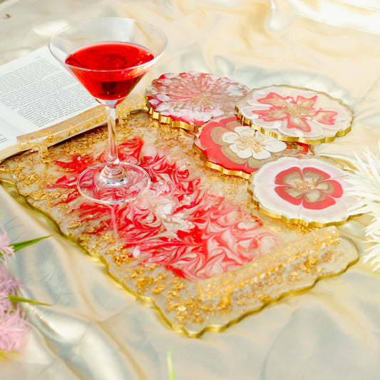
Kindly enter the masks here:
M 92 202 L 103 205 L 120 205 L 140 197 L 150 187 L 148 173 L 137 165 L 120 163 L 125 177 L 108 180 L 102 173 L 106 163 L 93 165 L 79 175 L 78 191 Z

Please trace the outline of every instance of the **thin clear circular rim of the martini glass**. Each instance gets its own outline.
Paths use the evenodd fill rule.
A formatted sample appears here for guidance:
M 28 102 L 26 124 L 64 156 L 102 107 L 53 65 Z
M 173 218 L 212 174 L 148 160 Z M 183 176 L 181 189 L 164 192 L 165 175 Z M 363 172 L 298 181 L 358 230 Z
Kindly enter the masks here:
M 56 56 L 56 54 L 53 53 L 53 49 L 52 49 L 52 41 L 54 38 L 58 37 L 59 34 L 61 34 L 63 31 L 66 31 L 70 28 L 72 28 L 73 26 L 77 26 L 79 24 L 85 24 L 85 23 L 90 23 L 91 21 L 96 21 L 96 20 L 111 20 L 111 19 L 119 19 L 119 20 L 128 20 L 128 21 L 133 21 L 133 24 L 140 24 L 140 25 L 143 25 L 143 26 L 148 26 L 150 29 L 154 29 L 156 32 L 158 32 L 158 34 L 160 34 L 160 36 L 163 38 L 163 49 L 160 51 L 160 53 L 158 53 L 156 56 L 153 55 L 153 59 L 151 59 L 150 61 L 147 61 L 145 63 L 141 63 L 139 65 L 135 65 L 135 66 L 129 66 L 128 68 L 113 68 L 111 70 L 101 70 L 101 69 L 94 69 L 94 68 L 84 68 L 84 67 L 81 67 L 81 66 L 75 66 L 75 65 L 71 65 L 69 63 L 66 63 L 65 61 L 61 60 L 61 58 L 59 58 L 58 56 Z M 84 44 L 82 46 L 78 46 L 78 48 L 81 48 L 83 46 L 91 46 L 92 44 L 95 44 L 95 43 L 107 43 L 107 42 L 125 42 L 125 43 L 131 43 L 135 46 L 141 46 L 143 48 L 146 48 L 148 51 L 150 51 L 146 46 L 143 46 L 143 45 L 140 45 L 139 43 L 133 43 L 133 42 L 130 42 L 130 41 L 122 41 L 122 40 L 107 40 L 107 41 L 98 41 L 98 42 L 93 42 L 93 43 L 87 43 L 87 44 Z M 71 68 L 75 68 L 76 70 L 81 70 L 81 71 L 93 71 L 93 72 L 98 72 L 98 73 L 112 73 L 112 72 L 120 72 L 120 71 L 131 71 L 135 68 L 145 68 L 146 66 L 151 66 L 153 65 L 153 63 L 155 63 L 155 61 L 158 61 L 158 58 L 160 58 L 160 56 L 163 55 L 163 53 L 165 52 L 166 50 L 166 47 L 168 46 L 168 38 L 165 36 L 165 34 L 163 33 L 163 31 L 161 31 L 157 26 L 154 26 L 153 24 L 149 24 L 145 21 L 142 21 L 140 19 L 132 19 L 132 18 L 129 18 L 129 17 L 96 17 L 96 18 L 93 18 L 93 19 L 84 19 L 84 20 L 81 20 L 81 21 L 77 21 L 75 23 L 71 23 L 71 24 L 68 24 L 66 26 L 63 26 L 63 28 L 59 29 L 58 31 L 56 31 L 55 34 L 53 34 L 53 36 L 51 36 L 50 40 L 49 40 L 49 43 L 48 43 L 48 48 L 49 48 L 49 51 L 51 52 L 51 54 L 53 55 L 54 58 L 56 58 L 58 61 L 60 61 L 61 63 L 63 63 L 64 65 L 66 66 L 69 66 Z M 73 49 L 73 51 L 76 51 L 76 49 Z M 72 52 L 72 51 L 71 51 Z M 66 53 L 66 57 L 65 59 L 70 55 L 71 53 Z

